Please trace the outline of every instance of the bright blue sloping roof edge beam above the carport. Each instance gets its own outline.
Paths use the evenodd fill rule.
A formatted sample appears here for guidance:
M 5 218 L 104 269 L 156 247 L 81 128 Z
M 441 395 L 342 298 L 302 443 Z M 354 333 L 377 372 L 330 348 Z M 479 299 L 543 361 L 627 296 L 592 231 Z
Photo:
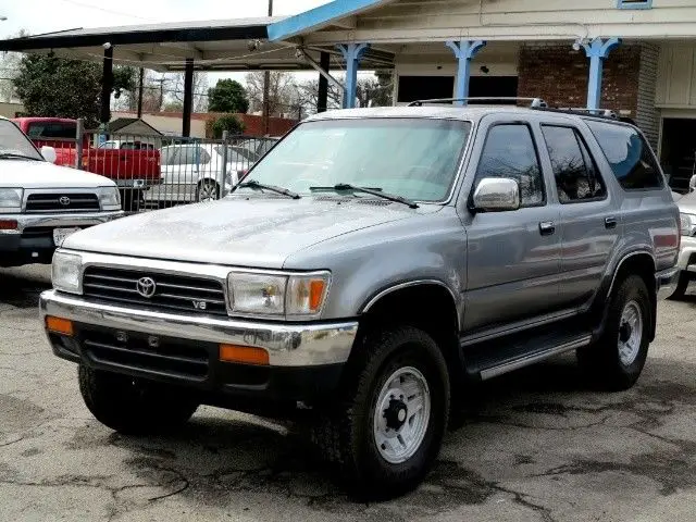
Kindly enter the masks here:
M 269 25 L 269 40 L 287 40 L 330 25 L 355 28 L 355 16 L 394 0 L 334 0 Z

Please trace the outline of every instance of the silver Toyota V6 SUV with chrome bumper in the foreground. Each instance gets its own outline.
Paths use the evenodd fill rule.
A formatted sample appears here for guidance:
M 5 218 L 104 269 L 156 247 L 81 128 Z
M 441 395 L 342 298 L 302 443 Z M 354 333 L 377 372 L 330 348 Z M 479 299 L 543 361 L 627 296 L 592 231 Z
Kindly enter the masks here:
M 462 387 L 576 351 L 632 386 L 673 290 L 680 215 L 610 117 L 505 107 L 310 117 L 217 202 L 71 236 L 41 314 L 123 433 L 200 403 L 310 419 L 349 486 L 435 460 Z

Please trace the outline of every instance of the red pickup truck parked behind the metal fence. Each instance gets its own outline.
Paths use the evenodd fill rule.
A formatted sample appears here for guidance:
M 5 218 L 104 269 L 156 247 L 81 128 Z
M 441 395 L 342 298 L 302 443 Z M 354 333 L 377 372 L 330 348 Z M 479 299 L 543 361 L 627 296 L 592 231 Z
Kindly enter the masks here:
M 77 162 L 77 121 L 61 117 L 17 117 L 14 123 L 38 148 L 55 149 L 55 164 L 74 167 Z M 150 147 L 92 148 L 83 138 L 82 169 L 112 179 L 121 188 L 124 210 L 136 210 L 142 191 L 161 183 L 160 151 Z

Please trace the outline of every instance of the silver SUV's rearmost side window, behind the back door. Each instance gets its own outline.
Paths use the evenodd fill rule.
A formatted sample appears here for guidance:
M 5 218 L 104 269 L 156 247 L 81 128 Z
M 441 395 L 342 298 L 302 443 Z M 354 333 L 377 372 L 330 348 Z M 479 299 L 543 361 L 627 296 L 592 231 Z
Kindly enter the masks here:
M 587 121 L 599 141 L 613 175 L 626 190 L 660 188 L 663 186 L 660 167 L 650 146 L 634 128 L 611 123 Z

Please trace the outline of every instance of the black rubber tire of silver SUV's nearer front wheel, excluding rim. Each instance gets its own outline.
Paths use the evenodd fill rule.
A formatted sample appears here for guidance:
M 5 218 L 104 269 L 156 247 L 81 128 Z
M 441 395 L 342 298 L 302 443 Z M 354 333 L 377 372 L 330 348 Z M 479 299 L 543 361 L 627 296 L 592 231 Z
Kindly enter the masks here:
M 435 341 L 411 326 L 372 332 L 356 350 L 339 400 L 320 413 L 312 438 L 324 459 L 338 465 L 340 478 L 351 494 L 363 499 L 387 499 L 418 486 L 439 452 L 450 408 L 447 364 Z M 393 464 L 376 446 L 376 400 L 389 376 L 409 366 L 420 371 L 427 382 L 431 413 L 415 453 Z

